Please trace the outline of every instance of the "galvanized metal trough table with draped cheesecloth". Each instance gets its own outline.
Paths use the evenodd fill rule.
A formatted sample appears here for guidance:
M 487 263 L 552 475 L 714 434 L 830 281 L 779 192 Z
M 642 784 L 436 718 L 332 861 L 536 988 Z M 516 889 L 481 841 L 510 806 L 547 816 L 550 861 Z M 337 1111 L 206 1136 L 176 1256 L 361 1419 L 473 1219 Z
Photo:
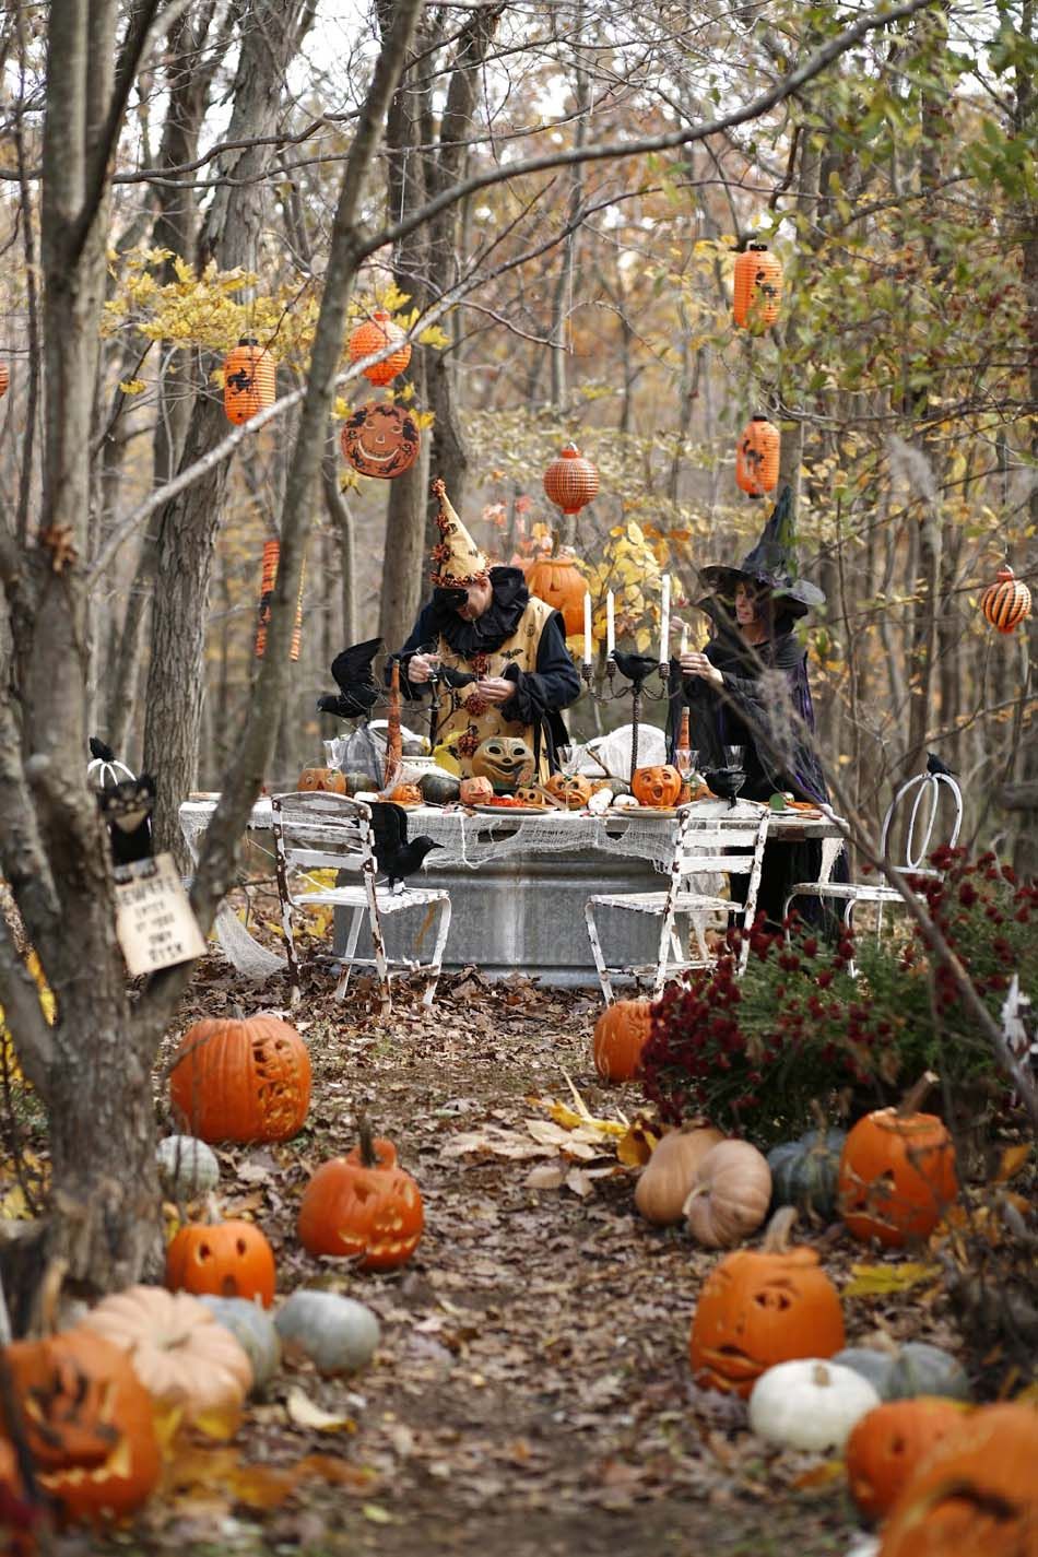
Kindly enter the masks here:
M 724 800 L 700 805 L 705 814 L 727 810 Z M 181 807 L 181 828 L 195 852 L 213 810 L 212 800 L 188 800 Z M 263 830 L 269 822 L 269 800 L 258 800 L 249 828 Z M 584 922 L 587 898 L 596 892 L 661 891 L 674 852 L 675 824 L 672 816 L 646 810 L 598 817 L 570 811 L 514 816 L 506 810 L 482 814 L 417 807 L 408 811 L 408 831 L 412 838 L 425 833 L 442 845 L 428 856 L 433 867 L 422 873 L 422 884 L 442 886 L 451 894 L 445 972 L 475 965 L 486 978 L 520 972 L 545 984 L 574 986 L 598 982 Z M 839 827 L 826 817 L 778 813 L 770 836 L 789 842 L 833 841 L 825 850 L 823 878 L 839 852 Z M 216 933 L 241 972 L 266 978 L 285 967 L 285 959 L 252 940 L 229 911 L 218 920 Z M 414 926 L 400 926 L 400 933 L 412 936 Z M 391 947 L 392 936 L 391 922 Z M 652 962 L 657 937 L 658 926 L 640 914 L 615 912 L 604 919 L 602 939 L 610 961 Z M 336 950 L 344 945 L 344 925 L 336 925 L 335 945 Z

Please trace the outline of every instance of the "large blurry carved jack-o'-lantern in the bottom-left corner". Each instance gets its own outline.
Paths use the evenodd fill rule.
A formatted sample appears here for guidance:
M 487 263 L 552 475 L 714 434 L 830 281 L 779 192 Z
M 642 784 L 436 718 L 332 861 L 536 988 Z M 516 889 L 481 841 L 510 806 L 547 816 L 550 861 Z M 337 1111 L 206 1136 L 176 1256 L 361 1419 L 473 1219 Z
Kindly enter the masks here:
M 5 1351 L 42 1490 L 67 1520 L 120 1518 L 159 1481 L 151 1397 L 117 1345 L 90 1330 Z M 0 1423 L 9 1436 L 5 1406 Z

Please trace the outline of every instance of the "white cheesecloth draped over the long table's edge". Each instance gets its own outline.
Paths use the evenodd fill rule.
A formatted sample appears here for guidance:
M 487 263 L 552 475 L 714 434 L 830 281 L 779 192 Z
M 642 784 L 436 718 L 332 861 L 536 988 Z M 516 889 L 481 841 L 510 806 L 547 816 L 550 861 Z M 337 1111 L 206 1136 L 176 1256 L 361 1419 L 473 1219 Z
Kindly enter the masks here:
M 198 859 L 202 835 L 215 810 L 215 800 L 185 800 L 181 807 L 181 831 L 193 859 Z M 703 816 L 728 814 L 725 800 L 702 800 L 696 810 L 702 810 Z M 833 824 L 805 822 L 797 816 L 786 819 L 778 814 L 772 819 L 772 836 L 781 836 L 783 824 L 803 827 L 826 839 L 829 847 L 823 849 L 822 880 L 828 880 L 842 842 Z M 252 807 L 249 831 L 263 831 L 269 827 L 271 802 L 265 796 Z M 509 816 L 503 808 L 500 816 L 490 816 L 425 805 L 408 811 L 408 835 L 411 838 L 425 835 L 440 844 L 436 855 L 430 856 L 436 870 L 459 866 L 478 870 L 490 861 L 515 859 L 523 855 L 598 850 L 646 859 L 666 873 L 674 855 L 675 827 L 674 817 L 654 816 L 651 811 L 610 811 L 607 816 L 548 811 L 543 816 Z M 660 886 L 663 889 L 665 883 Z M 213 928 L 229 961 L 246 978 L 265 979 L 286 967 L 286 959 L 261 947 L 227 903 L 221 903 Z

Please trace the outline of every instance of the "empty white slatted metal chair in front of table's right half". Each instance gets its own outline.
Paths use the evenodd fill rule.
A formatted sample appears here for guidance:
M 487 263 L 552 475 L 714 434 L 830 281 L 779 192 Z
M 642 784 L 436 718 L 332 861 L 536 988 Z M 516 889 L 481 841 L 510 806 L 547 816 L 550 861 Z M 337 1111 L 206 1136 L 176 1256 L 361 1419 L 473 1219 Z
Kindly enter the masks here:
M 714 961 L 703 936 L 703 920 L 707 914 L 725 914 L 744 928 L 753 923 L 756 914 L 756 894 L 761 884 L 761 866 L 764 861 L 764 844 L 767 841 L 767 824 L 770 811 L 745 803 L 728 808 L 716 816 L 703 816 L 702 808 L 682 807 L 677 821 L 677 839 L 671 859 L 671 883 L 666 892 L 627 892 L 615 897 L 598 894 L 587 900 L 584 917 L 587 919 L 591 956 L 598 968 L 602 995 L 607 1004 L 613 1000 L 612 975 L 627 978 L 654 979 L 652 993 L 657 998 L 668 978 L 683 968 L 710 967 Z M 742 850 L 742 853 L 731 853 Z M 716 875 L 749 875 L 745 903 L 717 897 L 711 892 L 699 892 L 689 884 L 691 877 L 707 873 Z M 654 914 L 660 923 L 660 944 L 655 965 L 647 967 L 610 967 L 602 956 L 596 909 L 627 909 L 635 914 Z M 679 914 L 689 917 L 689 934 L 682 942 L 675 922 Z M 689 958 L 691 934 L 696 936 L 697 956 Z M 739 953 L 739 973 L 745 970 L 750 954 L 749 936 L 742 942 Z

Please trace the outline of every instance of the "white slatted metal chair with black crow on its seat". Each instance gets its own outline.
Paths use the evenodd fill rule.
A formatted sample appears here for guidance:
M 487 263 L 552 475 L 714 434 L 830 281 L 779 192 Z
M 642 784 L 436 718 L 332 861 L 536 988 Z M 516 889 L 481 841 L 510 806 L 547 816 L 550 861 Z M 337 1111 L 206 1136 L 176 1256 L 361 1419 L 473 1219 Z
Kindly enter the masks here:
M 355 967 L 373 967 L 386 1007 L 391 1000 L 392 970 L 426 973 L 423 1004 L 431 1006 L 450 930 L 450 894 L 442 887 L 405 886 L 391 891 L 384 883 L 375 880 L 378 864 L 373 853 L 372 813 L 370 807 L 361 800 L 321 791 L 275 794 L 271 797 L 271 811 L 291 1003 L 294 1004 L 300 995 L 300 959 L 293 937 L 293 916 L 319 908 L 349 908 L 352 919 L 345 936 L 345 950 L 338 959 L 341 961 L 341 973 L 335 998 L 344 998 Z M 316 881 L 314 870 L 335 870 L 336 884 L 325 886 Z M 349 880 L 350 875 L 355 878 L 353 881 Z M 430 928 L 433 916 L 437 919 L 431 958 L 428 962 L 389 958 L 381 926 L 383 917 L 416 908 L 426 909 L 417 936 L 419 944 Z M 370 931 L 372 958 L 356 956 L 356 942 L 364 920 L 367 920 Z

